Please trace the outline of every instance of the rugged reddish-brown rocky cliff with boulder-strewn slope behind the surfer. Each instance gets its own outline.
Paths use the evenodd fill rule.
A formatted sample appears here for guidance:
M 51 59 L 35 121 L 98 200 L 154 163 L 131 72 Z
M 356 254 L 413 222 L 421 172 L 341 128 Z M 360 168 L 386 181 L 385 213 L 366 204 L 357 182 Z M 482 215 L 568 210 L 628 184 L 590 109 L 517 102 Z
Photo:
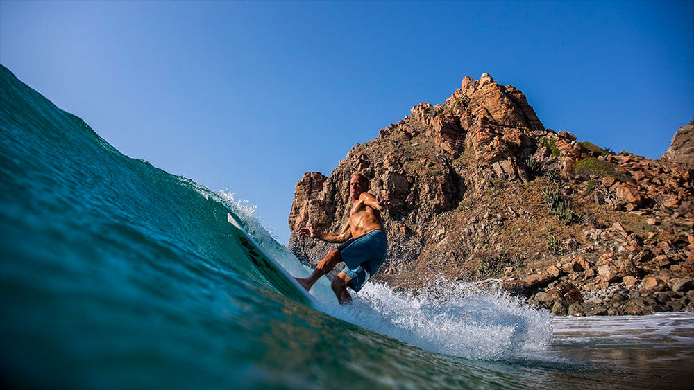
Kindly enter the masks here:
M 545 129 L 516 87 L 466 77 L 443 104 L 421 103 L 355 145 L 330 177 L 305 173 L 289 247 L 310 265 L 334 247 L 298 228 L 339 231 L 359 172 L 393 204 L 375 275 L 393 288 L 491 279 L 558 314 L 691 308 L 691 127 L 660 160 L 614 154 Z

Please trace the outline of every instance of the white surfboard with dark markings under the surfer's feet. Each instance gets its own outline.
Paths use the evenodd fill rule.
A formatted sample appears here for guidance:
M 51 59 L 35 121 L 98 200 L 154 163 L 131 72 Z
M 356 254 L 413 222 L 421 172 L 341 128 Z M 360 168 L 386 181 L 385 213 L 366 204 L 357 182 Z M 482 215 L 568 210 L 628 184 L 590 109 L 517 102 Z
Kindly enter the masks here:
M 241 247 L 249 263 L 257 269 L 262 276 L 275 287 L 282 295 L 305 305 L 316 307 L 316 299 L 309 294 L 301 285 L 287 272 L 286 269 L 277 263 L 265 249 L 258 245 L 246 229 L 231 216 L 226 215 L 226 219 L 232 226 L 232 232 L 237 244 Z

